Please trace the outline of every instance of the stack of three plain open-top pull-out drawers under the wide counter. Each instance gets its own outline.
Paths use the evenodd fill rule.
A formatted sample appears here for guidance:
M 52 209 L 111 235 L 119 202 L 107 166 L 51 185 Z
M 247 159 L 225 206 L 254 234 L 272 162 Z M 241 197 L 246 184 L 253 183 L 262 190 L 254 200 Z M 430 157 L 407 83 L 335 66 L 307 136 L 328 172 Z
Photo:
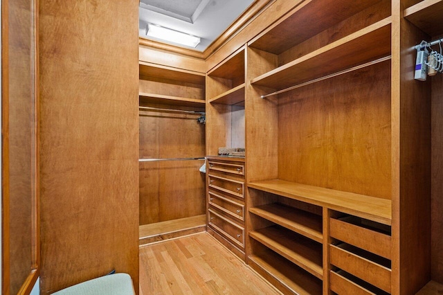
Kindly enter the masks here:
M 390 294 L 390 226 L 345 216 L 329 219 L 330 289 L 336 294 Z

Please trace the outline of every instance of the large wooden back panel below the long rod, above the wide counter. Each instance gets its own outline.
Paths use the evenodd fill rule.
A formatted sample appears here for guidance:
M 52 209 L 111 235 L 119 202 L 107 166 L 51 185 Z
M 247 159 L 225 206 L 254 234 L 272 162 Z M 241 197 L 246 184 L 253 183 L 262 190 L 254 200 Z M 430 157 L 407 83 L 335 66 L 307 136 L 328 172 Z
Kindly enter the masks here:
M 280 94 L 278 177 L 390 199 L 390 62 Z

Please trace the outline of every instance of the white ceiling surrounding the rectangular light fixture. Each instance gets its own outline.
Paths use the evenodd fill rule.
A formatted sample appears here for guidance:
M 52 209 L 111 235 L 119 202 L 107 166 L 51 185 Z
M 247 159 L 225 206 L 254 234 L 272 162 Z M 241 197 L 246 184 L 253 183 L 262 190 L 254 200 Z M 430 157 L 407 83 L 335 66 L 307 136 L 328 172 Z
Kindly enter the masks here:
M 253 1 L 141 0 L 138 10 L 139 35 L 147 38 L 145 35 L 147 23 L 156 24 L 201 37 L 201 43 L 195 49 L 204 51 L 237 17 L 242 15 Z M 156 41 L 163 42 L 160 39 Z

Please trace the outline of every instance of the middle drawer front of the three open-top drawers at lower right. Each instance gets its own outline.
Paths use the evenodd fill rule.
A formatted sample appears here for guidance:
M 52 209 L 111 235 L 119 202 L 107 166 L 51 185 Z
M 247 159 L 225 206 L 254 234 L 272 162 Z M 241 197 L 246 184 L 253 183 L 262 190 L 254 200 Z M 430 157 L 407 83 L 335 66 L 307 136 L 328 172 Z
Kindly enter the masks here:
M 390 269 L 342 247 L 329 245 L 329 258 L 332 265 L 390 293 Z

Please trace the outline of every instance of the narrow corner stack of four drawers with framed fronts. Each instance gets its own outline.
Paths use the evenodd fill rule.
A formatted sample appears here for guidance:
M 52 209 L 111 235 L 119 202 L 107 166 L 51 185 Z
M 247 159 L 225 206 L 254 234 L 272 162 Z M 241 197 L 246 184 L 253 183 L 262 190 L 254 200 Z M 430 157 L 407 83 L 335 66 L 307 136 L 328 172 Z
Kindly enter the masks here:
M 208 233 L 245 260 L 244 159 L 206 160 Z

